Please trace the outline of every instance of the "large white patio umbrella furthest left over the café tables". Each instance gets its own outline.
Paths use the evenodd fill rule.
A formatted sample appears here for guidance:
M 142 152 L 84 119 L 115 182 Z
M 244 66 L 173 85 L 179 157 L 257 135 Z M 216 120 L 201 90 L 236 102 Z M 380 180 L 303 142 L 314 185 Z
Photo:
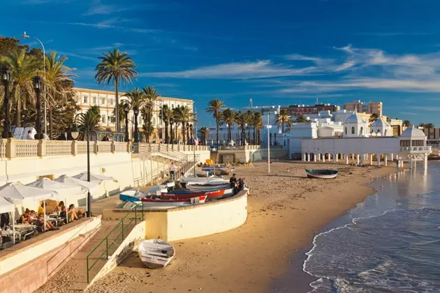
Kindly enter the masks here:
M 6 197 L 14 203 L 22 202 L 23 200 L 33 200 L 39 202 L 40 200 L 50 200 L 57 195 L 56 192 L 50 190 L 43 190 L 31 186 L 25 186 L 20 182 L 6 183 L 0 187 L 0 197 Z M 45 209 L 45 202 L 43 202 Z M 46 220 L 44 220 L 44 227 L 46 227 Z M 13 241 L 15 243 L 15 209 L 13 211 Z

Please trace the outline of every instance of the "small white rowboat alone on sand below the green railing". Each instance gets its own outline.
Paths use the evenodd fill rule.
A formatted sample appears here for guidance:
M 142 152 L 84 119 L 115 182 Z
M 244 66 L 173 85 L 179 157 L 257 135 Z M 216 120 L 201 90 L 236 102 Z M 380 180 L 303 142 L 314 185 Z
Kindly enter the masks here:
M 139 244 L 140 260 L 149 269 L 160 269 L 173 260 L 176 254 L 174 246 L 162 239 L 148 239 Z

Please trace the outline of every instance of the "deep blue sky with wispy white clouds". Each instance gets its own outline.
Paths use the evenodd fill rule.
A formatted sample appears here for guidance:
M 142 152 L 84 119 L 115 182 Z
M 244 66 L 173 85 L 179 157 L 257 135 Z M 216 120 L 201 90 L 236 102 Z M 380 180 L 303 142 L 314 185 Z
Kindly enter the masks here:
M 127 52 L 162 96 L 228 107 L 383 102 L 383 114 L 440 126 L 437 0 L 2 0 L 0 35 L 68 57 L 75 86 L 97 57 Z M 33 40 L 23 43 L 38 47 Z

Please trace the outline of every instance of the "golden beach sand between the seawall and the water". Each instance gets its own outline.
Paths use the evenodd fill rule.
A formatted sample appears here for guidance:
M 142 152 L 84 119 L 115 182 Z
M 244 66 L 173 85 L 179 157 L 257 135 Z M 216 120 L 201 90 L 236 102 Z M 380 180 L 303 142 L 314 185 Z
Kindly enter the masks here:
M 307 179 L 305 167 L 339 170 L 336 179 Z M 145 269 L 133 252 L 87 292 L 270 292 L 286 273 L 296 251 L 310 245 L 317 231 L 362 202 L 366 186 L 389 167 L 273 162 L 236 167 L 251 188 L 248 218 L 235 230 L 174 241 L 176 257 L 165 269 Z M 208 219 L 207 219 L 208 220 Z M 298 278 L 298 276 L 297 276 Z M 307 292 L 292 287 L 291 292 Z

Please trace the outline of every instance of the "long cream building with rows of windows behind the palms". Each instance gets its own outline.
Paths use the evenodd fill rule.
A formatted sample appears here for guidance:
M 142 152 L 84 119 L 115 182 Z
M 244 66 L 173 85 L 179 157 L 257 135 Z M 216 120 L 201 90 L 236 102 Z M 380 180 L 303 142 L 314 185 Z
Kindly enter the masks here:
M 115 131 L 115 107 L 116 107 L 116 98 L 115 92 L 113 91 L 101 91 L 96 89 L 80 89 L 74 88 L 75 91 L 74 100 L 77 105 L 80 107 L 80 111 L 78 113 L 85 113 L 91 107 L 99 107 L 99 111 L 101 114 L 101 127 L 103 129 Z M 119 93 L 119 100 L 124 100 L 126 97 L 125 93 Z M 161 133 L 163 133 L 162 129 L 165 127 L 165 124 L 160 119 L 159 111 L 163 105 L 168 105 L 171 109 L 180 106 L 187 106 L 193 112 L 193 100 L 182 99 L 182 98 L 168 98 L 159 96 L 154 104 L 153 115 L 152 115 L 152 126 L 155 128 L 156 139 L 161 139 Z M 129 112 L 129 129 L 133 128 L 134 114 L 131 110 Z M 145 121 L 142 119 L 142 115 L 138 116 L 138 126 L 140 131 L 142 131 L 142 125 Z M 122 121 L 122 127 L 125 127 L 125 122 Z M 178 131 L 177 133 L 180 133 Z

